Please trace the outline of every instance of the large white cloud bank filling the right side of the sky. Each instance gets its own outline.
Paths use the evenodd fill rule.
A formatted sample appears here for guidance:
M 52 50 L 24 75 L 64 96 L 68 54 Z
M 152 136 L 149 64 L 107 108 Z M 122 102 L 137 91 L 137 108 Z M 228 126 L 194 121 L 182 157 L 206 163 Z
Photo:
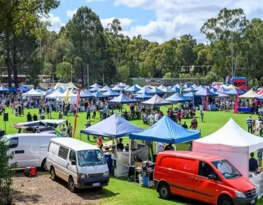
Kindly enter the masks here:
M 224 7 L 242 8 L 249 19 L 262 17 L 263 13 L 263 0 L 115 0 L 115 6 L 120 5 L 155 11 L 156 20 L 136 25 L 123 33 L 130 37 L 142 35 L 160 43 L 183 34 L 191 34 L 198 42 L 204 42 L 200 27 L 207 19 L 217 17 Z

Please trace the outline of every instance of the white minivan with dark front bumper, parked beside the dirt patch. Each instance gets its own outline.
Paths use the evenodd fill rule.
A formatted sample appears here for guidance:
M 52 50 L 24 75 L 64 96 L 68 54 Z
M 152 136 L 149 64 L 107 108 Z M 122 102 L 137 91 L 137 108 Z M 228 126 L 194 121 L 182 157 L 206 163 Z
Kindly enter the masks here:
M 68 182 L 70 192 L 77 188 L 101 189 L 110 180 L 109 169 L 102 151 L 74 138 L 50 140 L 46 165 L 51 179 Z

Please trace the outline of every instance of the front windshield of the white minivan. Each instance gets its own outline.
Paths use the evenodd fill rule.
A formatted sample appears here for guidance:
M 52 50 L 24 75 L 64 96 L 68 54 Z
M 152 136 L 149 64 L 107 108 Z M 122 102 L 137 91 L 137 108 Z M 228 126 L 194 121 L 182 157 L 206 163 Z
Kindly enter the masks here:
M 91 166 L 106 164 L 106 160 L 101 150 L 78 151 L 79 166 Z

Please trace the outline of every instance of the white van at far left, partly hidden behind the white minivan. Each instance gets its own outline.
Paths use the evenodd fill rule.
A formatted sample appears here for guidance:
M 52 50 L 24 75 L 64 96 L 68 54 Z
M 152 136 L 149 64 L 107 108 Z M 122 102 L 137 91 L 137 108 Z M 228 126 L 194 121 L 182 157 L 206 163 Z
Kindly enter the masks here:
M 14 152 L 14 158 L 9 160 L 9 164 L 17 162 L 18 168 L 35 166 L 47 170 L 47 148 L 50 139 L 54 137 L 57 136 L 42 133 L 8 134 L 1 140 L 9 146 L 8 154 Z

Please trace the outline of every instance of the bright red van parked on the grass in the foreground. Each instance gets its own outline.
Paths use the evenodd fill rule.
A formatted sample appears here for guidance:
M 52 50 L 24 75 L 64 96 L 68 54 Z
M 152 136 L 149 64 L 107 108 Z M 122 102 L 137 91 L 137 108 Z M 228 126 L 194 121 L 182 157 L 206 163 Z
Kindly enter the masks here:
M 252 182 L 226 159 L 204 153 L 159 153 L 154 184 L 162 199 L 176 194 L 210 204 L 257 203 L 257 192 Z

